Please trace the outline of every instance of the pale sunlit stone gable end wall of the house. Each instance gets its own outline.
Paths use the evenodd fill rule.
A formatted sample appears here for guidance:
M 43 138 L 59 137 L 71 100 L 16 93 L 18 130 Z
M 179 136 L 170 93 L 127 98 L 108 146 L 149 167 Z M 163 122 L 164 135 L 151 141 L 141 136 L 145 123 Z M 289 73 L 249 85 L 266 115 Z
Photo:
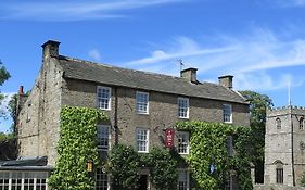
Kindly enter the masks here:
M 62 71 L 54 58 L 45 58 L 38 78 L 17 121 L 18 156 L 48 156 L 54 165 L 60 127 Z

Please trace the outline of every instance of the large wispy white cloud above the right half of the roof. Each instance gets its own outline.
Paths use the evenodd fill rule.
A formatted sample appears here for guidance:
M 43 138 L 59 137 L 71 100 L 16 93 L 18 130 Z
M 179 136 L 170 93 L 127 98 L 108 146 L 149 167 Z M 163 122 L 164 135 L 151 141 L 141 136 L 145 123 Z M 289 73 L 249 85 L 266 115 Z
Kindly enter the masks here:
M 305 66 L 305 39 L 283 38 L 279 33 L 263 28 L 253 28 L 247 35 L 239 36 L 217 35 L 201 39 L 176 37 L 156 47 L 148 56 L 128 61 L 124 65 L 177 76 L 177 60 L 182 59 L 187 67 L 199 68 L 199 77 L 217 78 L 232 74 L 237 88 L 253 90 L 287 88 L 289 73 L 275 74 L 274 71 Z M 304 83 L 297 77 L 290 79 L 294 85 L 298 85 L 295 81 Z

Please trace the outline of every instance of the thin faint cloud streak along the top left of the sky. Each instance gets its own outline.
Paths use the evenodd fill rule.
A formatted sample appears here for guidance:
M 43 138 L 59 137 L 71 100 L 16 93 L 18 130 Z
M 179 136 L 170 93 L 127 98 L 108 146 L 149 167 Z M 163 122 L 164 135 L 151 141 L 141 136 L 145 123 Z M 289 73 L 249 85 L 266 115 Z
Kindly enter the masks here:
M 125 17 L 119 13 L 182 0 L 113 0 L 113 1 L 52 1 L 1 3 L 2 20 L 82 21 Z

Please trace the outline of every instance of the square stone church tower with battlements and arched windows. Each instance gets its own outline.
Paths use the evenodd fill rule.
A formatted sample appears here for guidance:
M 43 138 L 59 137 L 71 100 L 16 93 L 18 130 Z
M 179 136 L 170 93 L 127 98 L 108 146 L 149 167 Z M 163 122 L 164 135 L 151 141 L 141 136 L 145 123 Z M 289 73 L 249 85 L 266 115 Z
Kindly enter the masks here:
M 265 183 L 300 186 L 305 172 L 305 107 L 284 106 L 267 111 Z

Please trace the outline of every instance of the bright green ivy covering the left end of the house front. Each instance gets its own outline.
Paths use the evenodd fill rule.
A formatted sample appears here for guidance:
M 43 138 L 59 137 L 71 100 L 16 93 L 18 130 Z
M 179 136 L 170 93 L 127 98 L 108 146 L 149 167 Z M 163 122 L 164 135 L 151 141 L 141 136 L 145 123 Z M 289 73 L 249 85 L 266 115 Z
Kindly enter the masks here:
M 99 163 L 97 123 L 106 116 L 96 109 L 65 106 L 61 110 L 59 159 L 49 178 L 52 190 L 92 190 L 94 178 L 86 163 Z

